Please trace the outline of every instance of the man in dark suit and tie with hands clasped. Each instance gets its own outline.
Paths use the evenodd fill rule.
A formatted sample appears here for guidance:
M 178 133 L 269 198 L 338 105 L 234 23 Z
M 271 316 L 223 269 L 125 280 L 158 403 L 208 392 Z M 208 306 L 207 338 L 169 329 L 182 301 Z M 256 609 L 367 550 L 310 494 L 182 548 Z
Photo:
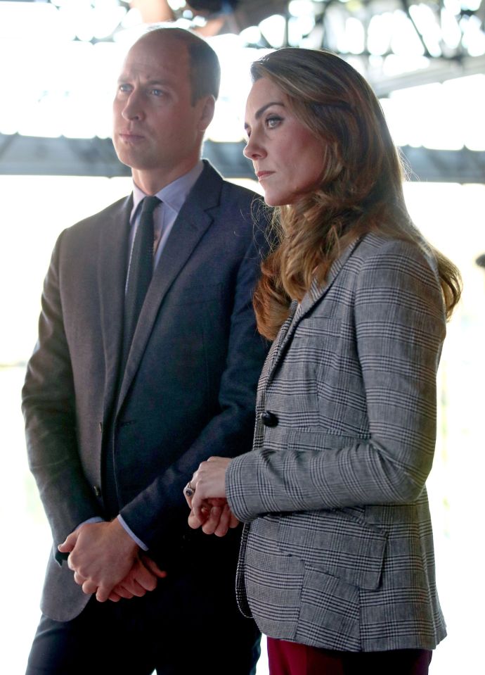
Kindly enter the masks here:
M 134 192 L 53 252 L 22 403 L 53 532 L 29 675 L 186 675 L 191 653 L 200 673 L 254 672 L 259 633 L 233 591 L 239 533 L 190 531 L 182 492 L 202 460 L 250 449 L 266 352 L 251 306 L 254 194 L 200 160 L 218 89 L 202 39 L 138 39 L 113 133 Z M 145 196 L 160 203 L 138 268 Z

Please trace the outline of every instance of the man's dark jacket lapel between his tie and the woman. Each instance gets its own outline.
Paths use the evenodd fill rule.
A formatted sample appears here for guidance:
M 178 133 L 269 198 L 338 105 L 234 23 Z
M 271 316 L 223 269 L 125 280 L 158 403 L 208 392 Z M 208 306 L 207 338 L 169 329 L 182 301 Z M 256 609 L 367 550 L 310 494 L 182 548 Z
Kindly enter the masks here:
M 153 274 L 131 342 L 122 386 L 119 391 L 118 408 L 138 369 L 153 330 L 160 304 L 212 223 L 213 217 L 210 211 L 219 204 L 221 187 L 221 177 L 206 163 L 205 169 L 190 191 L 174 222 L 172 232 L 167 239 Z

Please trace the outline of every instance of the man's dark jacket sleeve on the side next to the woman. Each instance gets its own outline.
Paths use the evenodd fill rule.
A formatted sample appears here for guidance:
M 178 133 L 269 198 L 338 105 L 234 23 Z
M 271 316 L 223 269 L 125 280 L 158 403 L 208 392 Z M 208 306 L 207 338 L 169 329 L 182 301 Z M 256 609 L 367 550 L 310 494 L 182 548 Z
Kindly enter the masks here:
M 185 528 L 187 505 L 183 487 L 200 462 L 213 455 L 232 458 L 252 446 L 257 382 L 269 348 L 269 343 L 257 332 L 252 308 L 254 286 L 267 248 L 265 227 L 266 220 L 261 216 L 238 267 L 228 351 L 219 386 L 219 413 L 209 420 L 179 460 L 120 512 L 131 531 L 149 549 L 160 547 L 169 537 L 179 536 Z

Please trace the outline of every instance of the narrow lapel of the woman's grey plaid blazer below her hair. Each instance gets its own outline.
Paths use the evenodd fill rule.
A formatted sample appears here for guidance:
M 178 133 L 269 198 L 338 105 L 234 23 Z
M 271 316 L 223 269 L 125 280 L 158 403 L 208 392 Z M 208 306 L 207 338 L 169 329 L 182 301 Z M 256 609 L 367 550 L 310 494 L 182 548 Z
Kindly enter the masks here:
M 321 301 L 321 299 L 328 292 L 328 289 L 330 289 L 330 286 L 332 286 L 332 284 L 335 282 L 335 279 L 337 279 L 340 270 L 342 270 L 342 267 L 344 267 L 345 263 L 347 263 L 347 260 L 351 256 L 351 253 L 353 253 L 359 241 L 359 239 L 356 239 L 355 241 L 352 241 L 351 244 L 347 246 L 347 248 L 344 248 L 344 251 L 342 251 L 340 257 L 337 258 L 337 260 L 335 260 L 335 262 L 332 264 L 332 267 L 330 267 L 327 279 L 325 279 L 325 282 L 322 286 L 320 286 L 316 280 L 313 279 L 308 293 L 306 293 L 302 299 L 302 302 L 297 306 L 292 321 L 285 322 L 283 324 L 281 329 L 281 333 L 283 333 L 283 335 L 278 334 L 278 337 L 276 338 L 278 341 L 278 348 L 271 362 L 271 367 L 269 367 L 268 370 L 266 385 L 271 381 L 276 368 L 278 367 L 278 363 L 280 362 L 281 358 L 283 358 L 283 354 L 287 350 L 287 347 L 292 340 L 293 335 L 295 334 L 297 325 L 302 320 L 302 318 L 310 312 L 311 308 L 313 308 L 313 305 Z

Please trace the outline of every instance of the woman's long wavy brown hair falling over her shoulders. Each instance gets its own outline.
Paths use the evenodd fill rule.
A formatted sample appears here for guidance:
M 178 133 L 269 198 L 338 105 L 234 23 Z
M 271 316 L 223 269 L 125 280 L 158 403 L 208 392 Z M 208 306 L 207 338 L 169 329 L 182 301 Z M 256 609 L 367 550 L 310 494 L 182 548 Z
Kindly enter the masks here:
M 254 293 L 258 329 L 274 339 L 292 300 L 323 282 L 340 251 L 366 232 L 414 241 L 437 260 L 446 314 L 460 299 L 460 272 L 425 244 L 403 197 L 403 165 L 366 80 L 339 56 L 285 48 L 255 61 L 252 80 L 271 80 L 322 148 L 318 189 L 275 209 L 273 248 Z

